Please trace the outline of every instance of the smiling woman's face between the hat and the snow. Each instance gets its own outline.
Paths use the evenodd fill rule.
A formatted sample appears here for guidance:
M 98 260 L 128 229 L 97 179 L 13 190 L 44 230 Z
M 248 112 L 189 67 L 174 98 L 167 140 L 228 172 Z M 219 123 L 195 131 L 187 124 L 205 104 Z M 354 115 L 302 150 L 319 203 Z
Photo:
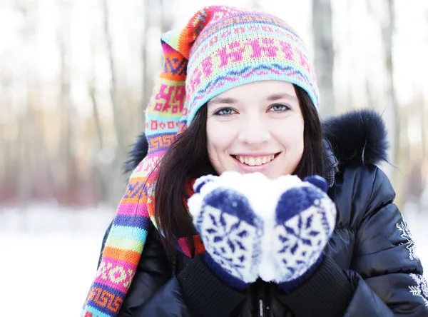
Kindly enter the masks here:
M 208 101 L 208 155 L 219 174 L 293 173 L 302 158 L 303 129 L 294 86 L 285 81 L 238 86 Z

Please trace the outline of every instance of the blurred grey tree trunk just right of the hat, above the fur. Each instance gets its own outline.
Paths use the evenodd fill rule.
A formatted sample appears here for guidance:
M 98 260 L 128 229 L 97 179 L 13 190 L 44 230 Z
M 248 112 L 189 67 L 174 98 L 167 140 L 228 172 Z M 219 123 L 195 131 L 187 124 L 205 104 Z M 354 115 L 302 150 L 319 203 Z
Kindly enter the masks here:
M 320 87 L 320 111 L 324 118 L 336 113 L 333 71 L 335 50 L 330 0 L 312 0 L 312 32 L 315 44 L 315 71 Z

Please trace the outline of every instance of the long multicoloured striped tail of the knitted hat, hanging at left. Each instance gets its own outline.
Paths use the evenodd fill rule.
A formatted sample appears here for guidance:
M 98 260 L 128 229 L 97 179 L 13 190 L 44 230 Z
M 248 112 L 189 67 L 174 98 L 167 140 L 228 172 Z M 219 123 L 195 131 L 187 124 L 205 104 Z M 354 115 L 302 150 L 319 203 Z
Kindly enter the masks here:
M 178 38 L 179 36 L 174 39 L 176 47 L 185 46 L 186 43 L 178 41 Z M 185 114 L 183 96 L 188 62 L 185 56 L 188 56 L 188 49 L 176 51 L 165 41 L 161 44 L 164 69 L 146 111 L 148 154 L 131 174 L 126 193 L 118 206 L 96 278 L 83 306 L 81 316 L 84 317 L 117 316 L 136 273 L 149 223 L 156 226 L 156 167 L 175 136 L 187 127 L 182 116 Z M 190 257 L 185 239 L 178 240 L 178 248 Z M 203 251 L 199 237 L 195 236 L 196 254 Z

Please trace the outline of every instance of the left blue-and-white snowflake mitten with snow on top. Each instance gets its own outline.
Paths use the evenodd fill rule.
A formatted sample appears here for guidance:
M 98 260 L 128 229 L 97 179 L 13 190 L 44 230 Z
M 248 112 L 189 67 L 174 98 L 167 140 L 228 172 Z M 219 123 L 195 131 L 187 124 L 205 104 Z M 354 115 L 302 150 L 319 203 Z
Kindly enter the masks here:
M 205 263 L 225 283 L 243 289 L 258 278 L 263 221 L 255 213 L 250 183 L 265 181 L 261 174 L 225 172 L 203 176 L 193 185 L 188 208 L 205 246 Z

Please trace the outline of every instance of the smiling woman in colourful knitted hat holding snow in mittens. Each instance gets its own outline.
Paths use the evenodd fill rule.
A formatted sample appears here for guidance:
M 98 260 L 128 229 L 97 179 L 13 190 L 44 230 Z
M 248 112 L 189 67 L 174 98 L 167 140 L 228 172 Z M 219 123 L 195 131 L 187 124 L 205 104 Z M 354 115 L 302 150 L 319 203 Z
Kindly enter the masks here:
M 382 119 L 321 126 L 305 45 L 269 14 L 208 6 L 162 46 L 82 316 L 428 316 L 412 237 L 374 165 Z M 303 241 L 297 220 L 306 246 L 285 248 Z

